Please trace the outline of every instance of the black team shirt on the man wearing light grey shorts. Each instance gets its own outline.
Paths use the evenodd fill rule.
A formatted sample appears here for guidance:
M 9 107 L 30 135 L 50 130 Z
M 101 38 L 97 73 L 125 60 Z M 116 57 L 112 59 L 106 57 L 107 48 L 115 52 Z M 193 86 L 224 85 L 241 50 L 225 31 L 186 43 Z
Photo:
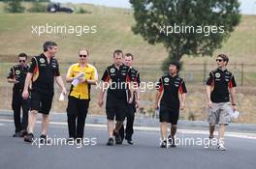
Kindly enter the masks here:
M 229 88 L 237 86 L 232 72 L 228 70 L 212 70 L 208 74 L 207 85 L 211 86 L 210 100 L 212 102 L 228 102 Z

